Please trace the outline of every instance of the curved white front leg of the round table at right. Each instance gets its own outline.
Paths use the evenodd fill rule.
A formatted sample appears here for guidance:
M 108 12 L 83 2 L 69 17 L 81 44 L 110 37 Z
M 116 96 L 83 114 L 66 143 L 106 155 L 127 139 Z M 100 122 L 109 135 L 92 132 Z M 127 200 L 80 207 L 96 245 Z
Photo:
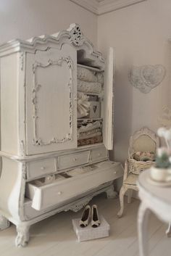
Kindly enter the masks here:
M 138 210 L 138 242 L 139 242 L 139 256 L 147 256 L 148 254 L 148 220 L 150 210 L 141 202 Z

